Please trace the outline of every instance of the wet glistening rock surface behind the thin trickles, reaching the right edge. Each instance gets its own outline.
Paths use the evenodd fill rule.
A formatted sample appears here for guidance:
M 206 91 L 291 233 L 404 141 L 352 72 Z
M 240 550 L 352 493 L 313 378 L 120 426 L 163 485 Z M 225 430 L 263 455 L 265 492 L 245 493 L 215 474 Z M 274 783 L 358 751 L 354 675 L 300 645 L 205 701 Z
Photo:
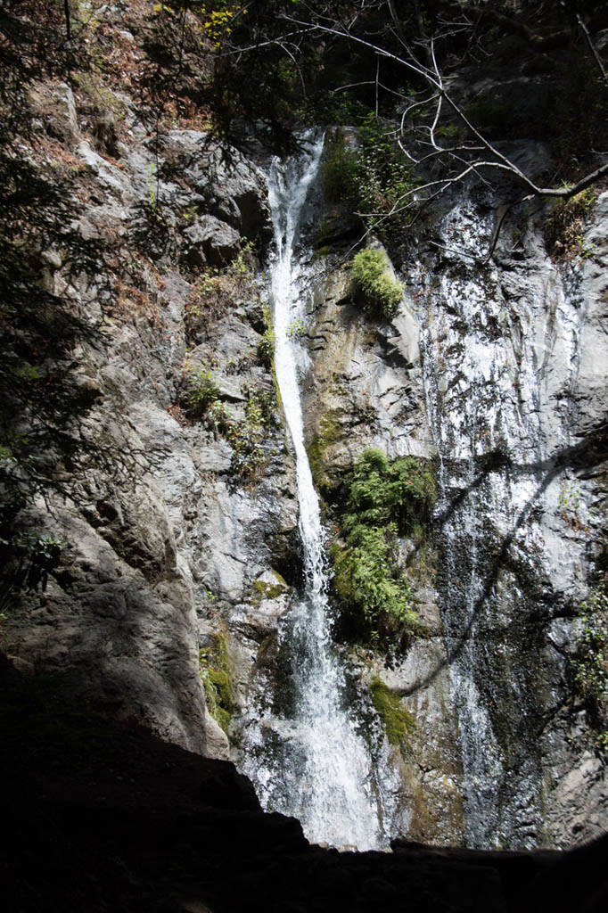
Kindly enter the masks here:
M 590 236 L 605 231 L 604 200 Z M 466 820 L 477 815 L 486 828 L 477 845 L 500 833 L 502 845 L 571 845 L 601 833 L 605 815 L 603 752 L 592 748 L 592 731 L 582 737 L 572 687 L 573 618 L 598 579 L 590 558 L 603 541 L 592 505 L 603 498 L 605 449 L 594 442 L 605 415 L 597 366 L 606 352 L 593 315 L 605 296 L 597 263 L 546 255 L 541 224 L 528 224 L 518 240 L 506 231 L 496 263 L 480 269 L 491 234 L 483 207 L 458 204 L 439 221 L 440 261 L 423 258 L 414 273 L 425 289 L 418 314 L 426 403 L 442 460 L 439 604 L 453 657 Z M 509 257 L 516 247 L 521 257 Z M 595 367 L 581 371 L 588 358 Z M 597 411 L 587 414 L 590 386 Z M 550 778 L 555 765 L 560 774 Z M 570 804 L 569 784 L 581 776 L 586 824 Z M 473 797 L 485 790 L 496 797 L 493 813 L 487 801 L 475 811 Z

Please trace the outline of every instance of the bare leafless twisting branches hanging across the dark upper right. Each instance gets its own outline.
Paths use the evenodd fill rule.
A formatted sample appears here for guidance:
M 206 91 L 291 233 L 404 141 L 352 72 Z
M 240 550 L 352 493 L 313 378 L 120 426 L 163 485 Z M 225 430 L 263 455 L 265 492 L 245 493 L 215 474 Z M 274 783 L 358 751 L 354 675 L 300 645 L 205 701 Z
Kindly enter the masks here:
M 414 224 L 426 205 L 432 203 L 438 196 L 445 194 L 455 184 L 466 181 L 471 175 L 488 184 L 488 179 L 492 173 L 512 177 L 520 185 L 522 192 L 520 197 L 537 197 L 545 199 L 555 199 L 566 201 L 576 194 L 580 194 L 593 184 L 597 184 L 603 177 L 608 175 L 608 161 L 606 157 L 600 158 L 597 167 L 592 171 L 584 174 L 581 178 L 570 184 L 562 186 L 545 186 L 540 184 L 538 179 L 526 173 L 519 166 L 516 160 L 509 157 L 502 151 L 499 144 L 495 144 L 487 135 L 480 131 L 475 123 L 470 120 L 465 107 L 452 94 L 449 82 L 446 80 L 442 71 L 437 55 L 437 46 L 439 42 L 454 40 L 456 36 L 468 37 L 468 44 L 481 48 L 479 37 L 477 35 L 477 23 L 470 16 L 462 12 L 460 18 L 454 21 L 451 18 L 439 17 L 435 23 L 435 35 L 429 37 L 427 25 L 422 16 L 421 5 L 414 0 L 414 35 L 406 31 L 402 23 L 393 0 L 388 0 L 388 23 L 387 28 L 391 33 L 395 50 L 389 47 L 383 47 L 379 38 L 374 38 L 369 32 L 356 33 L 359 27 L 360 16 L 366 9 L 377 8 L 381 5 L 375 5 L 361 0 L 357 4 L 356 12 L 351 17 L 351 21 L 340 22 L 333 16 L 330 6 L 321 4 L 320 7 L 314 5 L 309 7 L 306 3 L 301 3 L 294 12 L 284 12 L 278 16 L 285 23 L 283 34 L 274 36 L 268 33 L 258 33 L 257 41 L 252 41 L 248 45 L 240 47 L 225 46 L 221 55 L 229 57 L 239 55 L 247 51 L 259 50 L 266 47 L 281 47 L 284 50 L 286 46 L 292 47 L 293 55 L 289 53 L 292 62 L 295 63 L 295 56 L 301 53 L 301 48 L 305 47 L 302 43 L 312 39 L 316 41 L 325 37 L 335 37 L 339 40 L 349 42 L 352 46 L 365 48 L 372 52 L 375 58 L 375 73 L 370 72 L 368 79 L 363 79 L 354 83 L 354 85 L 368 84 L 374 90 L 374 110 L 376 116 L 380 110 L 380 90 L 388 90 L 393 96 L 400 99 L 401 114 L 398 124 L 393 131 L 393 138 L 398 145 L 404 158 L 411 164 L 413 169 L 417 169 L 419 174 L 427 175 L 427 180 L 423 184 L 410 186 L 404 190 L 404 193 L 396 200 L 389 212 L 383 213 L 365 213 L 359 214 L 375 220 L 375 225 L 382 224 L 385 220 L 391 219 L 394 215 L 410 212 L 411 218 L 409 224 Z M 291 7 L 294 9 L 294 7 Z M 310 18 L 305 18 L 304 10 L 309 10 Z M 314 10 L 314 13 L 313 13 Z M 302 12 L 300 12 L 302 11 Z M 490 15 L 484 7 L 484 13 Z M 496 20 L 496 16 L 491 16 Z M 503 19 L 498 16 L 500 23 Z M 582 36 L 591 50 L 591 56 L 594 65 L 601 74 L 603 84 L 608 85 L 606 69 L 603 66 L 602 58 L 597 48 L 593 45 L 590 28 L 582 20 L 581 16 L 576 16 L 572 24 L 578 23 Z M 503 23 L 507 27 L 507 23 Z M 277 24 L 275 23 L 274 28 Z M 280 26 L 279 26 L 280 27 Z M 576 26 L 575 26 L 576 27 Z M 278 29 L 277 29 L 278 31 Z M 571 36 L 570 29 L 561 29 L 559 32 L 547 31 L 545 36 L 537 35 L 532 32 L 528 26 L 519 21 L 510 23 L 509 31 L 518 34 L 523 40 L 529 43 L 530 47 L 540 47 L 547 50 L 565 42 L 568 36 Z M 483 50 L 483 48 L 481 48 Z M 404 92 L 395 91 L 383 85 L 381 79 L 381 67 L 384 58 L 389 61 L 392 67 L 403 68 L 414 83 L 425 84 L 426 89 L 418 92 L 415 96 L 408 96 Z M 363 75 L 363 74 L 362 74 Z M 386 80 L 388 81 L 388 80 Z M 341 86 L 332 89 L 333 92 L 350 88 Z M 456 121 L 466 130 L 466 136 L 457 139 L 446 139 L 442 135 L 442 123 L 446 123 L 449 118 L 452 123 Z M 598 154 L 598 153 L 596 153 Z M 599 153 L 601 154 L 601 153 Z M 518 198 L 517 202 L 521 202 Z M 511 203 L 510 205 L 516 205 Z M 498 219 L 497 228 L 490 244 L 490 250 L 487 257 L 491 257 L 498 243 L 498 233 L 504 223 L 504 216 Z

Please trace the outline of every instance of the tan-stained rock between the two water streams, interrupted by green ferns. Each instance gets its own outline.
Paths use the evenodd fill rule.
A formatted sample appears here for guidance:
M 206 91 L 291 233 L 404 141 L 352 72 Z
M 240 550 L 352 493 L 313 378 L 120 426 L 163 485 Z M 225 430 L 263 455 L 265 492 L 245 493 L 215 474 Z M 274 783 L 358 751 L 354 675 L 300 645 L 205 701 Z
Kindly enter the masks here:
M 411 303 L 404 299 L 390 323 L 374 323 L 353 303 L 349 284 L 348 270 L 330 270 L 311 303 L 306 418 L 309 442 L 318 454 L 316 474 L 328 484 L 339 480 L 366 446 L 392 457 L 435 456 L 425 418 L 420 330 Z M 394 809 L 393 833 L 437 845 L 461 844 L 462 771 L 443 624 L 432 583 L 425 582 L 422 568 L 412 571 L 419 577 L 416 601 L 425 639 L 414 640 L 396 666 L 375 660 L 359 674 L 368 686 L 377 675 L 397 693 L 412 692 L 403 706 L 412 714 L 414 730 L 406 750 L 391 749 L 389 767 L 398 785 L 385 786 L 386 802 Z

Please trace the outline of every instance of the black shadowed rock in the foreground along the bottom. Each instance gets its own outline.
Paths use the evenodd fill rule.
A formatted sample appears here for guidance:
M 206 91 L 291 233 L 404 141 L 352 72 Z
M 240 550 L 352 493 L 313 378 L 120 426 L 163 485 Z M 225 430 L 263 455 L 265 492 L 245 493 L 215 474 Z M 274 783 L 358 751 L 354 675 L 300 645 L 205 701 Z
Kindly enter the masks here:
M 4 908 L 11 911 L 604 910 L 608 838 L 571 853 L 310 846 L 245 777 L 66 709 L 3 664 Z

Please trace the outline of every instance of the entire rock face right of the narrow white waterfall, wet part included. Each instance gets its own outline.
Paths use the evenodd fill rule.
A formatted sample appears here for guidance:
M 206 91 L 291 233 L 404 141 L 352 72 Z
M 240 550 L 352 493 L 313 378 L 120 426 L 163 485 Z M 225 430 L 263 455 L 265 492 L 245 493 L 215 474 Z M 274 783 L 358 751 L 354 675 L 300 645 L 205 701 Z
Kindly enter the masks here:
M 538 143 L 510 154 L 545 160 Z M 403 663 L 358 666 L 416 721 L 391 750 L 394 832 L 568 846 L 602 833 L 608 801 L 602 729 L 573 681 L 605 548 L 608 194 L 584 257 L 551 260 L 540 212 L 519 212 L 481 267 L 500 192 L 435 212 L 390 324 L 356 309 L 343 266 L 311 264 L 305 420 L 328 491 L 364 446 L 439 458 L 431 585 L 411 568 L 428 636 Z

